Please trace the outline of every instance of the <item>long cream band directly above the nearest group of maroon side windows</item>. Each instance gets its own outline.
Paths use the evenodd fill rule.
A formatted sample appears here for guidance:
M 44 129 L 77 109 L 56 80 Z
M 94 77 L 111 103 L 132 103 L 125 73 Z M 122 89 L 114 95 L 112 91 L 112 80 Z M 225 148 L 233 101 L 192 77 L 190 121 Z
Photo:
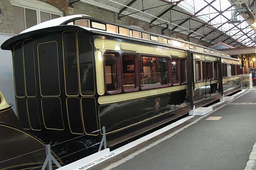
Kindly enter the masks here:
M 128 42 L 120 42 L 120 41 L 114 41 L 114 40 L 106 40 L 106 39 L 99 39 L 97 38 L 94 41 L 94 45 L 98 49 L 105 49 L 105 50 L 114 50 L 114 51 L 120 51 L 121 47 L 124 46 L 134 46 L 133 43 Z M 178 50 L 170 50 L 166 48 L 156 48 L 146 45 L 136 45 L 136 48 L 133 48 L 133 51 L 136 50 L 137 53 L 141 54 L 151 54 L 151 55 L 160 55 L 160 56 L 178 56 L 180 58 L 186 58 L 186 51 L 178 51 Z

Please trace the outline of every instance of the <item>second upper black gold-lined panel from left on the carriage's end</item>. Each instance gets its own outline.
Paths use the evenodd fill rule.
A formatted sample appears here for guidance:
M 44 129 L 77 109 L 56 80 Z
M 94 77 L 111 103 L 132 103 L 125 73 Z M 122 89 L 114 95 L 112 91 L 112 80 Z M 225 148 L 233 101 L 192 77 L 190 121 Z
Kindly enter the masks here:
M 34 45 L 32 39 L 23 42 L 23 54 L 26 77 L 26 95 L 36 96 Z

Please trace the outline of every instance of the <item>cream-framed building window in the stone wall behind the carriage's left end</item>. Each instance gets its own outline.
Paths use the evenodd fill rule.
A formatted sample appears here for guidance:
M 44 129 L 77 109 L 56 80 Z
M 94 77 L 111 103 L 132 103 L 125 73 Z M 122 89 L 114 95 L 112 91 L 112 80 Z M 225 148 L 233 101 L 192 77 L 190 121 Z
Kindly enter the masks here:
M 27 28 L 63 16 L 58 8 L 39 0 L 11 0 L 14 31 L 19 34 Z

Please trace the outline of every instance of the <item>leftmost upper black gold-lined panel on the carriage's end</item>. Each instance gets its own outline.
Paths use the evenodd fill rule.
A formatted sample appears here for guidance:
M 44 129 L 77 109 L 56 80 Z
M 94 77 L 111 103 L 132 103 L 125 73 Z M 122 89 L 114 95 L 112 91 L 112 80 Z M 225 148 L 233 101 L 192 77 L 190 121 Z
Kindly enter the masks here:
M 22 56 L 22 44 L 18 43 L 14 46 L 13 65 L 16 96 L 25 96 L 24 68 Z

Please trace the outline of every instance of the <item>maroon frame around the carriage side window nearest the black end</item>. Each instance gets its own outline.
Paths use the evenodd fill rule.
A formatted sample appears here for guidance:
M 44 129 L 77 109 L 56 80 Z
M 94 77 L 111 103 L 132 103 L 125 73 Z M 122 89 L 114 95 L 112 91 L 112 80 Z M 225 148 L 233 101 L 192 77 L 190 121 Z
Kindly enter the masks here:
M 118 89 L 117 90 L 113 90 L 113 91 L 108 91 L 107 89 L 107 83 L 106 83 L 106 60 L 105 60 L 105 55 L 106 54 L 114 54 L 116 56 L 116 69 L 117 69 L 117 72 L 116 72 L 116 77 L 117 77 L 117 82 L 118 82 Z M 121 65 L 121 55 L 119 54 L 119 52 L 117 51 L 110 51 L 110 50 L 107 50 L 104 52 L 103 54 L 103 67 L 104 67 L 104 85 L 105 85 L 105 92 L 107 94 L 119 94 L 122 92 L 122 78 L 121 78 L 121 68 L 122 68 L 122 65 Z

